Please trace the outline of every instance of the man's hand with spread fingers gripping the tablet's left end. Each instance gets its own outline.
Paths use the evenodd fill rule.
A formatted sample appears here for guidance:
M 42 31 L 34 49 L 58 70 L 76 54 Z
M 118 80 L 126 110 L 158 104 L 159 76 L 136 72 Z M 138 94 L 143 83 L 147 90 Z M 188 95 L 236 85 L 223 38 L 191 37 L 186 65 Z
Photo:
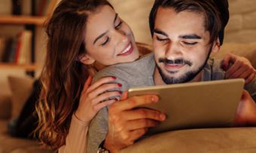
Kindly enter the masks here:
M 164 121 L 166 115 L 157 110 L 136 108 L 145 104 L 157 103 L 156 95 L 143 95 L 127 99 L 123 93 L 121 101 L 112 104 L 108 109 L 108 133 L 105 148 L 116 152 L 132 145 L 136 139 L 146 133 L 148 127 L 155 127 Z

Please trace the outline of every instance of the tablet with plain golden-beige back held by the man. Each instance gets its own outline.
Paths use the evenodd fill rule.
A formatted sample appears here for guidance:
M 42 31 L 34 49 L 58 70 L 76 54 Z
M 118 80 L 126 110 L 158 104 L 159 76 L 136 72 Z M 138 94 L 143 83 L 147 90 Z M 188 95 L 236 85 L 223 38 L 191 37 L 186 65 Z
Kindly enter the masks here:
M 243 79 L 182 83 L 131 88 L 129 97 L 158 95 L 157 104 L 147 107 L 166 113 L 166 121 L 148 130 L 148 134 L 167 130 L 202 127 L 230 127 L 242 96 Z

